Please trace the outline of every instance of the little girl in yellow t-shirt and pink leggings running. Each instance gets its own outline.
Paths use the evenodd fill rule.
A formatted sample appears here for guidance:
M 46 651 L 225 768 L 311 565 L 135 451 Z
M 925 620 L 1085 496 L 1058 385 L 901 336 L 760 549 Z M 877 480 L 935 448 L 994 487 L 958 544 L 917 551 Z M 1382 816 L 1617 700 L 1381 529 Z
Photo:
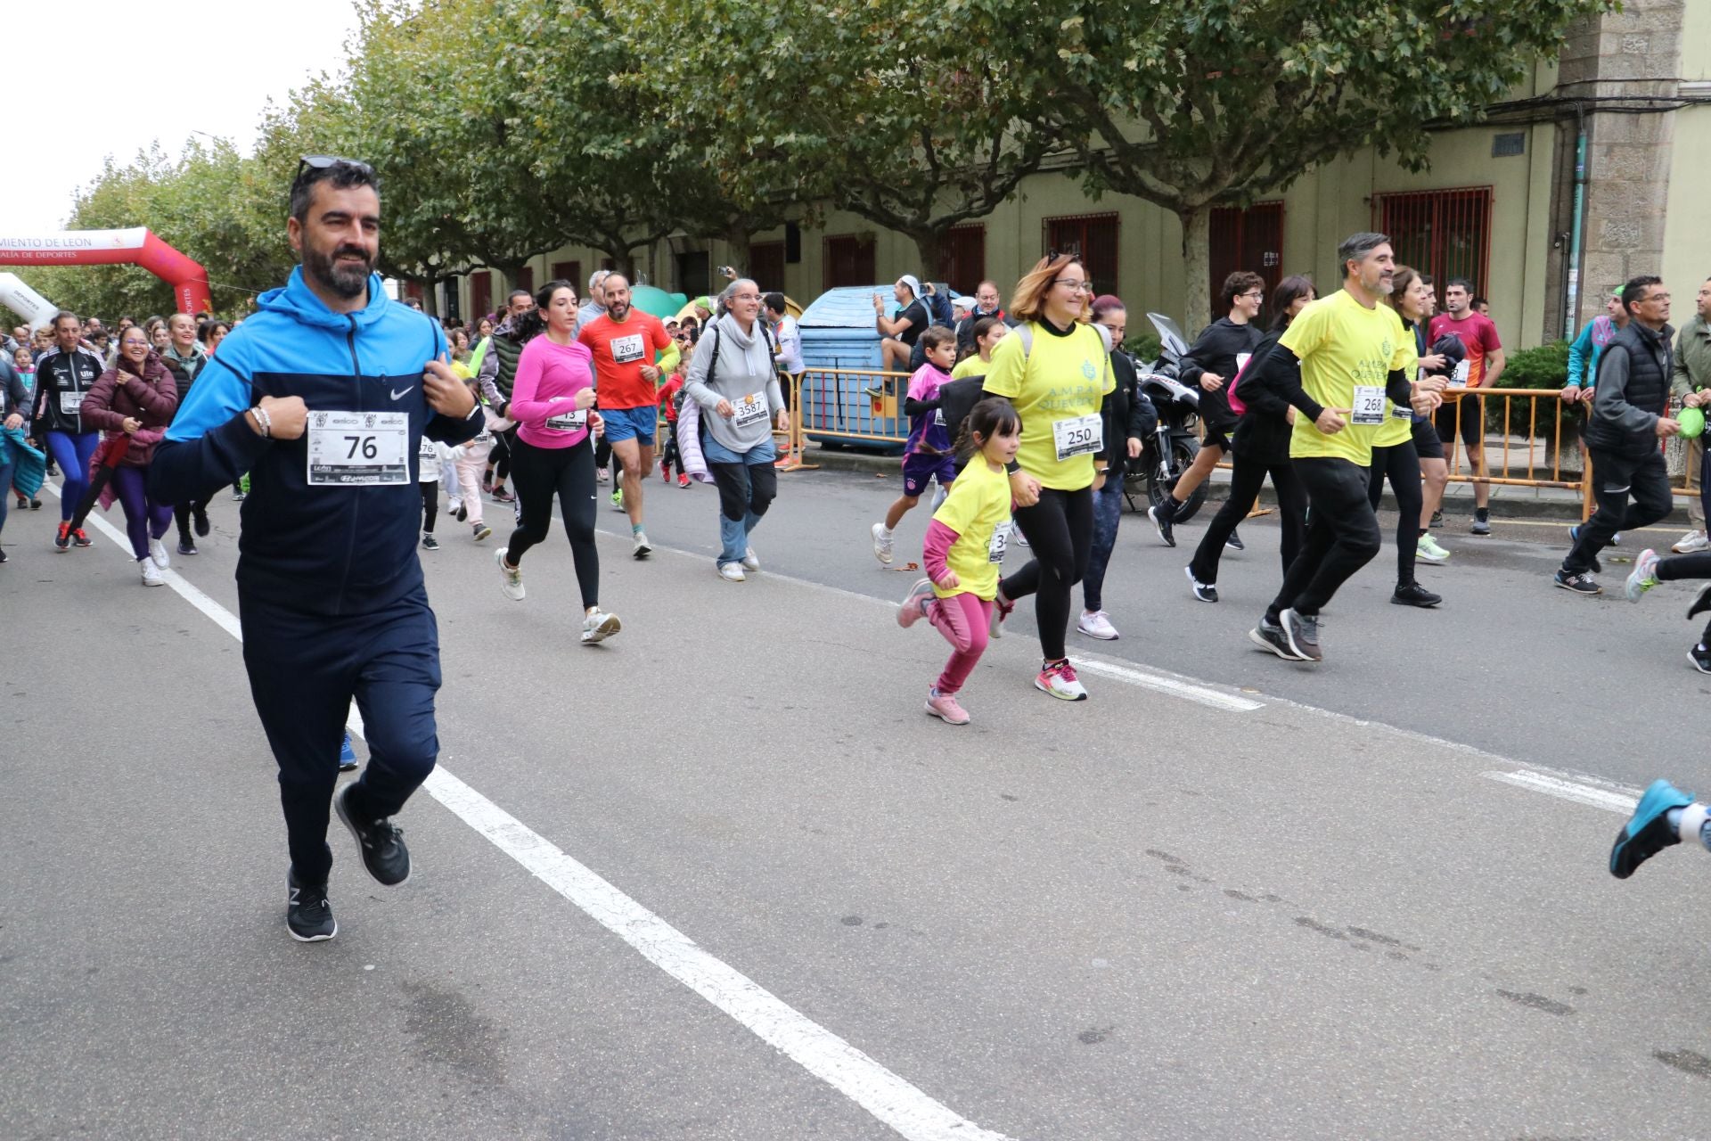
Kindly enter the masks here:
M 986 653 L 998 597 L 998 565 L 1009 539 L 1009 476 L 1004 465 L 1021 445 L 1021 417 L 1009 400 L 989 397 L 974 405 L 956 438 L 956 455 L 968 460 L 951 493 L 927 523 L 922 578 L 897 607 L 897 624 L 926 618 L 951 643 L 951 660 L 927 689 L 927 713 L 967 725 L 956 703 L 968 674 Z M 972 458 L 970 458 L 972 457 Z

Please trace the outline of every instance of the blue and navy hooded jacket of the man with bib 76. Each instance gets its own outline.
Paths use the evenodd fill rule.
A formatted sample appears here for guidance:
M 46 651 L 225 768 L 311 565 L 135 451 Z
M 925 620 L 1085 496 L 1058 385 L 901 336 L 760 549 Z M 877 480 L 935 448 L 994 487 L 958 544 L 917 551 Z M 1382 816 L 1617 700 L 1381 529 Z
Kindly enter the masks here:
M 423 590 L 416 556 L 421 436 L 464 443 L 481 431 L 435 412 L 423 368 L 445 354 L 438 322 L 387 298 L 370 275 L 368 304 L 334 313 L 303 282 L 262 294 L 260 311 L 224 340 L 154 452 L 159 503 L 207 498 L 250 474 L 238 539 L 238 588 L 306 614 L 368 614 Z M 262 397 L 303 397 L 310 412 L 409 412 L 409 482 L 308 484 L 308 440 L 267 440 L 245 411 Z

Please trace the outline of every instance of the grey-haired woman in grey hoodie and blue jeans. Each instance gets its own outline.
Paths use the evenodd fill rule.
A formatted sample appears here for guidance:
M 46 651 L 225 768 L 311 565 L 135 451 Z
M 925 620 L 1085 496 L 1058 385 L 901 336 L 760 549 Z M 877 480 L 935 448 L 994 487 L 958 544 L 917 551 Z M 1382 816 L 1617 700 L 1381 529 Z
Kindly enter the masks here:
M 702 409 L 702 450 L 719 486 L 719 576 L 743 582 L 760 570 L 749 534 L 779 494 L 772 424 L 789 431 L 775 346 L 760 320 L 760 286 L 741 277 L 724 294 L 725 313 L 695 346 L 684 392 Z

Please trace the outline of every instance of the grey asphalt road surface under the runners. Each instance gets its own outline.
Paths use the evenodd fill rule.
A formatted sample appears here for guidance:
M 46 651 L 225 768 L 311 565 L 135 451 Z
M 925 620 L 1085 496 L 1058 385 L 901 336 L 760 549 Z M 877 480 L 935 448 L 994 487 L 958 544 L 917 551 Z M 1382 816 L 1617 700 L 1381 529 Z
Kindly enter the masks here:
M 1711 864 L 1605 871 L 1625 795 L 1704 783 L 1685 585 L 1578 599 L 1559 530 L 1449 535 L 1442 609 L 1389 606 L 1381 556 L 1304 667 L 1246 641 L 1270 520 L 1206 606 L 1126 517 L 1124 636 L 1071 638 L 1092 700 L 1032 689 L 1023 607 L 951 729 L 921 713 L 943 641 L 867 547 L 898 481 L 782 482 L 743 585 L 710 489 L 650 484 L 645 565 L 602 506 L 597 648 L 559 534 L 512 604 L 498 535 L 441 515 L 416 872 L 383 890 L 335 835 L 313 946 L 216 621 L 236 508 L 183 594 L 14 513 L 0 1136 L 1704 1136 L 1680 900 Z

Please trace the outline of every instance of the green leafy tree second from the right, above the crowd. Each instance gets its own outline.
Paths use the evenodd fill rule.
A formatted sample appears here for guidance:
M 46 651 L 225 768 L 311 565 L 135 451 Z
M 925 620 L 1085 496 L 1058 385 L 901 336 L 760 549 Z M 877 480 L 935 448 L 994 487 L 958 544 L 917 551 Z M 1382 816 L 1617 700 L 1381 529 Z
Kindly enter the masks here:
M 1032 86 L 994 53 L 1032 12 L 1015 2 L 660 0 L 630 19 L 633 36 L 696 29 L 654 58 L 643 82 L 674 132 L 705 132 L 720 198 L 850 210 L 909 234 L 938 274 L 944 234 L 1015 195 L 1051 149 Z

